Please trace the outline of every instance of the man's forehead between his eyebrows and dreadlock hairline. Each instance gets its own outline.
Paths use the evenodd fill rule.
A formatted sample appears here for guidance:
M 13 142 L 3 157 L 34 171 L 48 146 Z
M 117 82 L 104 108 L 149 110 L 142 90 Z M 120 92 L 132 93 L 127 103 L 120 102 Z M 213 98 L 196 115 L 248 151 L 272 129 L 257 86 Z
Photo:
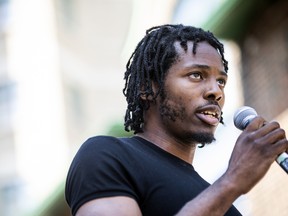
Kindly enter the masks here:
M 224 71 L 224 65 L 221 55 L 207 42 L 199 42 L 196 46 L 196 53 L 193 53 L 194 42 L 187 42 L 187 51 L 181 47 L 180 42 L 175 42 L 174 46 L 179 56 L 179 61 L 190 62 L 199 65 L 216 67 Z

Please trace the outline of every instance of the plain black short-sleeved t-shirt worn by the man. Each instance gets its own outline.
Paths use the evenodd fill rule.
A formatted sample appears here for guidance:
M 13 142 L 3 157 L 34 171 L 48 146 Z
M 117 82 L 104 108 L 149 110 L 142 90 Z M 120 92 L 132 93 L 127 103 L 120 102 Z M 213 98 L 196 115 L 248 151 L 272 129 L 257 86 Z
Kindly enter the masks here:
M 97 136 L 72 161 L 65 196 L 73 215 L 93 199 L 128 196 L 144 216 L 169 216 L 208 186 L 191 164 L 140 137 Z M 232 206 L 225 215 L 241 214 Z

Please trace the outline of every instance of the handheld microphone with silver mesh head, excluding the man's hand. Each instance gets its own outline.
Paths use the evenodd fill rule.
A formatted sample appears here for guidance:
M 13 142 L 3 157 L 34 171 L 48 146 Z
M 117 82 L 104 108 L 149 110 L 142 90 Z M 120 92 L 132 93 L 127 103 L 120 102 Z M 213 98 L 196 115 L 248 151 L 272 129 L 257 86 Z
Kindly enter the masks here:
M 256 110 L 251 107 L 240 107 L 234 114 L 234 125 L 236 128 L 244 130 L 257 115 Z M 286 152 L 281 153 L 276 161 L 288 174 L 288 154 Z

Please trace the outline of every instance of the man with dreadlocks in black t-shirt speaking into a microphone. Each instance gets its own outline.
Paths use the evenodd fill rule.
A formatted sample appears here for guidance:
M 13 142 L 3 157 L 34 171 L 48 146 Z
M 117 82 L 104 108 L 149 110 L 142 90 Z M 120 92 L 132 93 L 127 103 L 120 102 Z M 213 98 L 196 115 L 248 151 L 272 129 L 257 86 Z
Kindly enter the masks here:
M 125 129 L 135 136 L 97 136 L 81 146 L 66 183 L 73 215 L 241 215 L 233 202 L 287 151 L 288 141 L 278 123 L 256 117 L 217 181 L 210 185 L 194 170 L 196 146 L 213 142 L 223 122 L 223 53 L 213 34 L 199 28 L 147 31 L 125 73 Z

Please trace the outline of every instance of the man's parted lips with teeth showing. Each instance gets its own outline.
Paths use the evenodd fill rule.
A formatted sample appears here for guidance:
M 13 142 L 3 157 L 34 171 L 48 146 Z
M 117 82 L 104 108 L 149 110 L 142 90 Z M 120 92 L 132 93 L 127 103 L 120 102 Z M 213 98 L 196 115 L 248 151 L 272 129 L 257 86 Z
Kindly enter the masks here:
M 217 126 L 220 122 L 221 109 L 217 105 L 203 106 L 196 111 L 196 116 L 208 125 Z

